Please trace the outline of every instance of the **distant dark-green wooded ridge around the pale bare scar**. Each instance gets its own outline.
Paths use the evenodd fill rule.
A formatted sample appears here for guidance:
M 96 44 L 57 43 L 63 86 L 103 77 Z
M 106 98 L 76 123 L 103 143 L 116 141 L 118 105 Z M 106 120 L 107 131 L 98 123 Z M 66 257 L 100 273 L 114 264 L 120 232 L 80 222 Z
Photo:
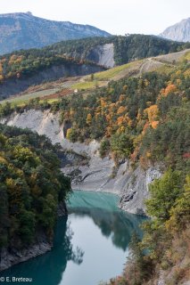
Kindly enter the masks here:
M 90 52 L 95 46 L 110 43 L 114 45 L 114 60 L 117 65 L 158 54 L 178 52 L 188 45 L 161 37 L 134 34 L 126 37 L 91 37 L 70 40 L 47 46 L 45 51 L 65 53 L 77 59 L 89 59 Z

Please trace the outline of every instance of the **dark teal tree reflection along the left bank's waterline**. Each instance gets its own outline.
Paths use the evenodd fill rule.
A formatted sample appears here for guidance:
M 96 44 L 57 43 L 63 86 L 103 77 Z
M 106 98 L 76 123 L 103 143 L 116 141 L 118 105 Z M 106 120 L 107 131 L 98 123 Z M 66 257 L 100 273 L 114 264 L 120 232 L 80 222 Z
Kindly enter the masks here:
M 60 219 L 56 227 L 52 251 L 20 265 L 12 266 L 4 271 L 2 276 L 30 277 L 33 279 L 32 284 L 37 285 L 59 284 L 68 261 L 71 260 L 77 265 L 83 261 L 84 252 L 81 248 L 73 248 L 72 235 L 70 223 L 67 223 L 66 218 Z

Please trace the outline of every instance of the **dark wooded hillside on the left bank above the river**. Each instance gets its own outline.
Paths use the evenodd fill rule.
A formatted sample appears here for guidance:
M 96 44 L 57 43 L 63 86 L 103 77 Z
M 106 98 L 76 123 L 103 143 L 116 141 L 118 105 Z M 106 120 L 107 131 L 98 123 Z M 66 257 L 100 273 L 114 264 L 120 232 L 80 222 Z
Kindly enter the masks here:
M 0 250 L 54 236 L 57 208 L 70 192 L 59 148 L 42 135 L 0 125 Z

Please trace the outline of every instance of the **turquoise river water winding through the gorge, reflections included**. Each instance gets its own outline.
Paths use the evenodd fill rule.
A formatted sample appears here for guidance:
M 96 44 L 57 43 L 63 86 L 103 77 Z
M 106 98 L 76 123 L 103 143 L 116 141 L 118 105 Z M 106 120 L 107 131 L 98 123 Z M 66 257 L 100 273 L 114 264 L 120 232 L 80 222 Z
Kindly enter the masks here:
M 131 235 L 142 234 L 139 224 L 145 218 L 124 213 L 118 201 L 109 193 L 74 191 L 68 219 L 57 223 L 52 251 L 14 265 L 1 276 L 29 277 L 32 285 L 98 285 L 120 275 Z

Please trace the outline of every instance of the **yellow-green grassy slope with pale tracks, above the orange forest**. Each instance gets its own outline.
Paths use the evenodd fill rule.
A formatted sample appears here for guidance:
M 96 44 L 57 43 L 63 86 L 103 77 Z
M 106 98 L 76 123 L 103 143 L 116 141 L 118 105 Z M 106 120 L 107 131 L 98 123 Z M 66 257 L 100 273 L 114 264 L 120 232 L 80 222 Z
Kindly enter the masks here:
M 56 100 L 59 100 L 59 97 L 62 96 L 62 91 L 64 91 L 64 95 L 67 95 L 67 92 L 69 95 L 70 92 L 74 92 L 74 90 L 77 89 L 78 91 L 82 91 L 84 94 L 86 94 L 96 87 L 108 85 L 110 81 L 119 80 L 122 77 L 140 76 L 140 74 L 144 72 L 153 70 L 158 70 L 160 72 L 169 72 L 171 69 L 175 69 L 175 64 L 178 63 L 178 61 L 189 60 L 189 58 L 190 50 L 186 50 L 179 53 L 169 53 L 167 55 L 162 55 L 155 58 L 134 61 L 117 66 L 113 69 L 97 72 L 94 74 L 93 80 L 91 76 L 70 77 L 67 79 L 67 81 L 64 80 L 64 82 L 62 82 L 62 80 L 55 81 L 54 83 L 51 83 L 50 86 L 39 85 L 38 90 L 36 86 L 35 92 L 32 92 L 30 88 L 29 92 L 26 92 L 21 96 L 4 100 L 1 103 L 4 104 L 5 102 L 11 102 L 12 105 L 21 106 L 25 102 L 28 102 L 30 99 L 37 97 L 39 97 L 42 101 L 47 100 L 48 102 L 54 102 Z M 54 98 L 51 96 L 53 94 Z M 45 97 L 45 99 L 43 99 L 43 97 Z

